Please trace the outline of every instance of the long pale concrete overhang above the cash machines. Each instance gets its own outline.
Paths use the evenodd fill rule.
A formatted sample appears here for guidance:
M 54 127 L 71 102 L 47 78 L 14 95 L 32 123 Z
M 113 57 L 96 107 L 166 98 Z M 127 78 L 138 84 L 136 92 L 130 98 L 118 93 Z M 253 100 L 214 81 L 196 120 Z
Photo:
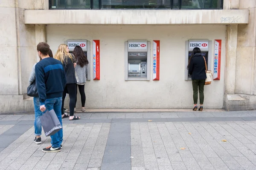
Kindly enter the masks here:
M 25 10 L 25 24 L 247 24 L 248 9 Z

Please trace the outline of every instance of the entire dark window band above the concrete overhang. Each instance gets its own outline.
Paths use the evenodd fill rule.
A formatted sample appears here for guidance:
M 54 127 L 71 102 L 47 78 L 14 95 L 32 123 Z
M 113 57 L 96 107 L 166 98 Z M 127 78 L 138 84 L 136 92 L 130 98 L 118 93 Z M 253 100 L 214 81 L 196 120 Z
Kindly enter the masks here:
M 49 9 L 223 9 L 223 0 L 49 0 Z

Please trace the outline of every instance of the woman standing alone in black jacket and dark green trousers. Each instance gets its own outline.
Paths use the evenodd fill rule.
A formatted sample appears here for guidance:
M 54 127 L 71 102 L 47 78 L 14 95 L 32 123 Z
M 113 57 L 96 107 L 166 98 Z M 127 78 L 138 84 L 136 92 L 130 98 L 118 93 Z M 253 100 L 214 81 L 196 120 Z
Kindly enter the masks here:
M 201 55 L 201 50 L 198 47 L 193 49 L 191 58 L 189 58 L 189 74 L 192 76 L 192 86 L 193 86 L 193 100 L 194 100 L 194 108 L 196 111 L 198 106 L 198 89 L 199 89 L 199 100 L 200 100 L 200 108 L 199 111 L 203 111 L 204 104 L 204 81 L 207 78 L 205 72 L 205 62 L 204 57 Z

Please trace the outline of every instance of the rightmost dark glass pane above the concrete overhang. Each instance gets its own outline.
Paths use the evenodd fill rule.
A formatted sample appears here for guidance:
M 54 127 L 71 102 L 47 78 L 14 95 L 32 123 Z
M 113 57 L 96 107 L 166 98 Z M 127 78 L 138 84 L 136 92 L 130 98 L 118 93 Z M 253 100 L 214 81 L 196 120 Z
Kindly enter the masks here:
M 182 0 L 182 9 L 220 9 L 223 0 Z

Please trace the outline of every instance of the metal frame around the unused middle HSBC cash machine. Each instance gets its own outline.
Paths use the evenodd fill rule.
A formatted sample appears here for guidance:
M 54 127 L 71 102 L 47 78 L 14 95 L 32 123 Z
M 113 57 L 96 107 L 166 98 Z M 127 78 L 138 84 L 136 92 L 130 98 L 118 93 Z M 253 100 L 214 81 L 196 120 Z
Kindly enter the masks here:
M 147 77 L 146 78 L 128 78 L 128 41 L 129 42 L 146 42 L 147 43 Z M 125 81 L 129 80 L 145 80 L 150 81 L 150 73 L 151 73 L 151 43 L 147 40 L 128 40 L 125 41 Z

